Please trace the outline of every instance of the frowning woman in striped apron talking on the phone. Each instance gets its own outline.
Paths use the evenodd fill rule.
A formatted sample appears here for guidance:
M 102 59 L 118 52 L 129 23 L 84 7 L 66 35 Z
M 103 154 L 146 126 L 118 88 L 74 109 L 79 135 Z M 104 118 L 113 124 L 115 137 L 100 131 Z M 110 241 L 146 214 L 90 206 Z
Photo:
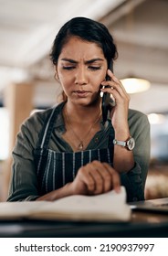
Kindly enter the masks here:
M 64 101 L 21 126 L 7 200 L 97 195 L 120 191 L 120 185 L 128 201 L 144 199 L 150 126 L 146 115 L 129 110 L 129 95 L 108 69 L 117 58 L 108 29 L 72 18 L 60 28 L 50 56 Z M 115 100 L 105 123 L 100 91 Z

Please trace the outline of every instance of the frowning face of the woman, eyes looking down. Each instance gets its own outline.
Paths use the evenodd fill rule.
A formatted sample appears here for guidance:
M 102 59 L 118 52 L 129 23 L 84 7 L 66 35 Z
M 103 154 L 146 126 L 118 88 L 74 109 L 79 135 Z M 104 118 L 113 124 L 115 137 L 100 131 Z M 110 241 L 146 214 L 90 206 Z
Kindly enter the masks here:
M 68 101 L 89 105 L 100 99 L 100 83 L 105 80 L 107 60 L 95 43 L 70 37 L 56 67 L 58 80 Z

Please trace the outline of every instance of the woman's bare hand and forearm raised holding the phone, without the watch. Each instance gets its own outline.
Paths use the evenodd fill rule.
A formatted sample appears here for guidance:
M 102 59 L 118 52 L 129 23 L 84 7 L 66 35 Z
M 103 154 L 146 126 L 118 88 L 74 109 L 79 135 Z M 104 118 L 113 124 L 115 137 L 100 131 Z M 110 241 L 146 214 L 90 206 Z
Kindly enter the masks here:
M 111 124 L 114 128 L 115 139 L 124 142 L 131 136 L 128 123 L 130 95 L 125 91 L 121 81 L 114 76 L 110 69 L 108 69 L 107 74 L 110 80 L 101 83 L 105 87 L 101 91 L 110 93 L 115 101 L 115 106 L 110 110 Z M 131 170 L 134 166 L 132 151 L 127 150 L 126 147 L 121 145 L 115 145 L 113 166 L 119 172 Z

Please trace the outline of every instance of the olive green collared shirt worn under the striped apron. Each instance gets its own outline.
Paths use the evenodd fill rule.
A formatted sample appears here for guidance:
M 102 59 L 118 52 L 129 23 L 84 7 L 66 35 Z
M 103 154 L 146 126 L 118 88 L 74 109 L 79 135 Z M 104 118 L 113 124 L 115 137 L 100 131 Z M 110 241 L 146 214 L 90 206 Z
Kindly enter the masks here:
M 60 105 L 58 105 L 58 108 L 60 108 Z M 34 150 L 37 147 L 38 135 L 43 123 L 50 112 L 51 109 L 35 112 L 21 125 L 12 153 L 13 165 L 8 201 L 35 200 L 39 197 Z M 131 183 L 135 194 L 142 195 L 134 197 L 133 200 L 142 200 L 150 161 L 150 123 L 145 114 L 134 110 L 129 110 L 128 123 L 131 136 L 135 139 L 135 147 L 133 149 L 135 166 L 129 172 L 128 182 Z M 106 125 L 107 123 L 105 125 L 101 123 L 100 132 L 96 133 L 92 138 L 87 149 L 107 147 Z M 60 108 L 49 141 L 49 149 L 56 152 L 72 152 L 70 145 L 61 136 L 64 132 L 65 124 Z M 136 190 L 141 191 L 139 193 Z

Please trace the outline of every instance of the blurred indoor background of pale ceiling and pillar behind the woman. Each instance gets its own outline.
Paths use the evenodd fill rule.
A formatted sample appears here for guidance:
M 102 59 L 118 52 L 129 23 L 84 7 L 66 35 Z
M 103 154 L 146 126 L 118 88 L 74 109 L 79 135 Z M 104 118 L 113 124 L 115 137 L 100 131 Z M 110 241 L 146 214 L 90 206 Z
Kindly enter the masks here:
M 168 197 L 168 1 L 0 0 L 0 200 L 7 195 L 11 151 L 20 124 L 58 102 L 49 52 L 58 29 L 74 16 L 109 27 L 119 51 L 114 72 L 133 80 L 130 107 L 151 123 L 146 198 Z M 141 80 L 141 82 L 142 82 Z

